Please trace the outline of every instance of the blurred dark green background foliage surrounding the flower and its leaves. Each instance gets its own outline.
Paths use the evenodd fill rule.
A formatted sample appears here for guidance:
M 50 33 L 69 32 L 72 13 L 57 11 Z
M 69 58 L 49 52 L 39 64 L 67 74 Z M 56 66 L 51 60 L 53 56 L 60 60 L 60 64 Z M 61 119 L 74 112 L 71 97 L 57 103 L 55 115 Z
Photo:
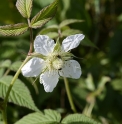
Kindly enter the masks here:
M 32 15 L 52 2 L 53 0 L 34 0 Z M 17 11 L 15 3 L 16 0 L 1 1 L 0 25 L 26 22 Z M 55 18 L 43 27 L 45 29 L 54 24 L 59 25 L 66 19 L 84 20 L 82 23 L 71 24 L 68 28 L 82 31 L 98 49 L 80 45 L 72 51 L 79 57 L 76 59 L 81 64 L 83 74 L 79 80 L 69 79 L 70 88 L 78 112 L 103 124 L 122 123 L 121 5 L 121 0 L 60 0 Z M 34 30 L 34 36 L 40 31 L 41 29 Z M 0 77 L 14 75 L 18 64 L 12 64 L 21 63 L 28 50 L 29 32 L 17 37 L 0 36 Z M 33 87 L 33 78 L 20 75 L 19 79 L 29 88 L 40 110 L 55 109 L 62 116 L 72 113 L 62 79 L 52 93 L 46 93 L 38 80 Z M 10 124 L 31 112 L 12 103 L 8 106 Z

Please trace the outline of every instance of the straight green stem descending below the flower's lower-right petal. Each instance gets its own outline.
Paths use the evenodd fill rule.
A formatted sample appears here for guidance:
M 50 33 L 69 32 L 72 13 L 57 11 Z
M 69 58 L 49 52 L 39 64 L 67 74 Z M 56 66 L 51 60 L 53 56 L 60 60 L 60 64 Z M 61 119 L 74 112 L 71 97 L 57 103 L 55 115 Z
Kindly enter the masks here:
M 77 111 L 76 111 L 76 108 L 75 108 L 73 100 L 72 100 L 71 92 L 70 92 L 70 89 L 69 89 L 69 82 L 68 82 L 67 78 L 64 78 L 64 83 L 65 83 L 65 88 L 66 88 L 66 92 L 67 92 L 67 96 L 68 96 L 68 99 L 69 99 L 71 109 L 73 110 L 73 112 L 76 113 Z

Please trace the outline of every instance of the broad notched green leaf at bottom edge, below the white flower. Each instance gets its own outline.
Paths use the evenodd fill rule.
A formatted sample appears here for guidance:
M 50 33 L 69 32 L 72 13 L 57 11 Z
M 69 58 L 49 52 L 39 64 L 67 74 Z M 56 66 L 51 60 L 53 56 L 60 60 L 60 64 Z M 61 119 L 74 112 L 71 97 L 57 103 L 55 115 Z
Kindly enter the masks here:
M 37 112 L 29 114 L 15 124 L 59 124 L 60 120 L 61 115 L 58 112 L 47 109 L 44 114 Z

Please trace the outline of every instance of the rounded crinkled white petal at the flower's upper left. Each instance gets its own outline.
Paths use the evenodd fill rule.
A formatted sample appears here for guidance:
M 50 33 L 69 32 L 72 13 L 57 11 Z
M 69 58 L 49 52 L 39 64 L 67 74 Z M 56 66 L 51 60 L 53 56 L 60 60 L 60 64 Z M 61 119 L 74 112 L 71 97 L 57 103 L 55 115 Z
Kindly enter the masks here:
M 41 53 L 43 55 L 48 55 L 54 48 L 54 40 L 50 39 L 46 35 L 38 35 L 34 41 L 35 52 Z

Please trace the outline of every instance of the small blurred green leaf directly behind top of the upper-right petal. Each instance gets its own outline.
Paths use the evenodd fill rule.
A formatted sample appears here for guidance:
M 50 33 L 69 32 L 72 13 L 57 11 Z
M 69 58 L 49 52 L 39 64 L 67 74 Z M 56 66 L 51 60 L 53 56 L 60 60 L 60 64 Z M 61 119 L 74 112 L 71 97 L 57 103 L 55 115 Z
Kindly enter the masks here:
M 66 29 L 66 30 L 62 31 L 62 36 L 67 37 L 69 35 L 80 34 L 80 33 L 82 33 L 80 30 Z

